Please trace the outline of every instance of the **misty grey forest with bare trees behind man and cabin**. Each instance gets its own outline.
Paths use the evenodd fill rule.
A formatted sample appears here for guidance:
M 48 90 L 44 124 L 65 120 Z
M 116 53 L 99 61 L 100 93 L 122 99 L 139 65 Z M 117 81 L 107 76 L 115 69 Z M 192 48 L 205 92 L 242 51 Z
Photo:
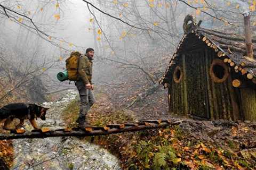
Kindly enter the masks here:
M 65 69 L 72 50 L 84 53 L 93 47 L 98 89 L 120 108 L 166 114 L 167 90 L 158 80 L 183 35 L 185 16 L 203 20 L 204 28 L 243 33 L 242 12 L 247 7 L 254 11 L 254 3 L 1 1 L 1 105 L 42 102 L 46 94 L 75 88 L 60 83 L 56 74 Z

